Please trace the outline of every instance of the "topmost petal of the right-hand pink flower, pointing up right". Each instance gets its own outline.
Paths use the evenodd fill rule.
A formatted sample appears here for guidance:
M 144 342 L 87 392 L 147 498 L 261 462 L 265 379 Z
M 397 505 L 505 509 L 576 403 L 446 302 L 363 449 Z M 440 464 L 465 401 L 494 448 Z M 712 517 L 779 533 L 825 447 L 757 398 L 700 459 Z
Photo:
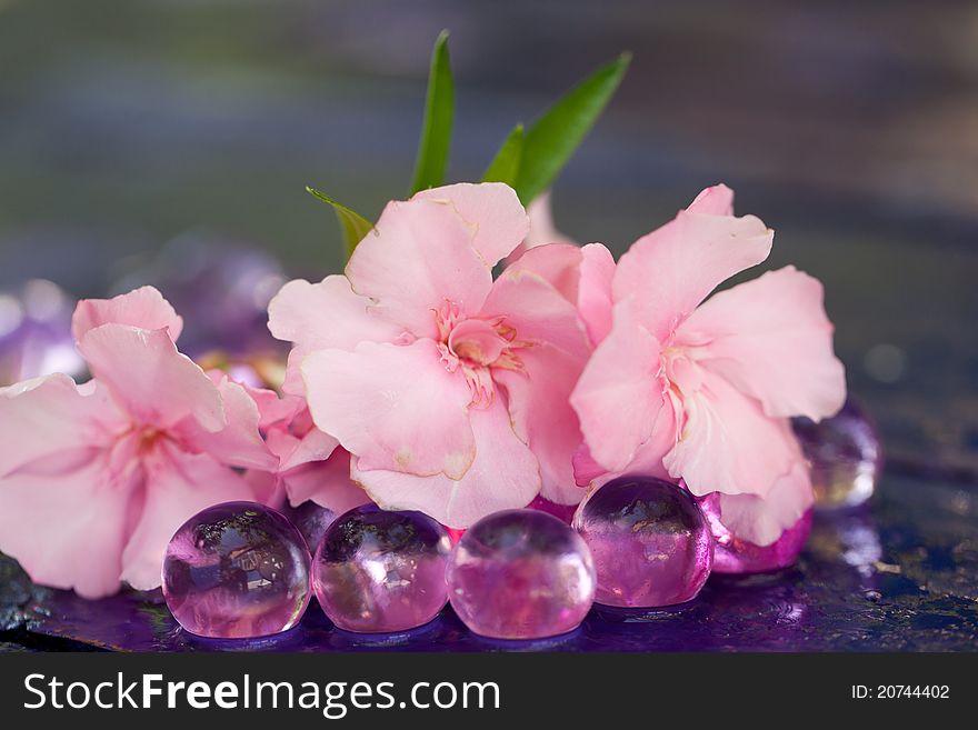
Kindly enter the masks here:
M 631 298 L 639 321 L 662 342 L 718 284 L 770 253 L 774 232 L 758 218 L 718 213 L 728 193 L 726 188 L 700 193 L 618 262 L 615 301 Z

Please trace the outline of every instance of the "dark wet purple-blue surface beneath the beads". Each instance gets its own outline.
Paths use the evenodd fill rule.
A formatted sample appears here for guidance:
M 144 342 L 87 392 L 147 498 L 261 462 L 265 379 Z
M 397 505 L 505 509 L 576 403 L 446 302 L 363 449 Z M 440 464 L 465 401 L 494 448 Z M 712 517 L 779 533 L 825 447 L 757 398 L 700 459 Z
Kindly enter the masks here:
M 191 637 L 154 594 L 86 601 L 0 567 L 0 651 L 974 651 L 978 649 L 978 490 L 887 473 L 864 509 L 816 516 L 794 568 L 713 576 L 691 603 L 595 607 L 577 631 L 542 641 L 470 633 L 446 609 L 400 634 L 332 627 L 313 602 L 280 637 Z

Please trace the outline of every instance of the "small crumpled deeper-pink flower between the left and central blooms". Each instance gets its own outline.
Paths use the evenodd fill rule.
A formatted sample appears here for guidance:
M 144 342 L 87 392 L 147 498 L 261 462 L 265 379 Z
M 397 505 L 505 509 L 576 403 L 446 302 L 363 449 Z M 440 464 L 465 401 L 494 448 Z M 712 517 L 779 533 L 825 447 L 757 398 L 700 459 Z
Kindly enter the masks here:
M 275 473 L 249 474 L 256 483 L 265 482 L 278 507 L 288 500 L 292 507 L 312 500 L 336 514 L 342 514 L 370 501 L 367 493 L 350 481 L 350 453 L 337 439 L 312 423 L 306 401 L 297 396 L 279 396 L 271 390 L 247 388 L 261 413 L 259 430 L 272 453 L 279 458 Z M 310 546 L 313 550 L 316 546 Z

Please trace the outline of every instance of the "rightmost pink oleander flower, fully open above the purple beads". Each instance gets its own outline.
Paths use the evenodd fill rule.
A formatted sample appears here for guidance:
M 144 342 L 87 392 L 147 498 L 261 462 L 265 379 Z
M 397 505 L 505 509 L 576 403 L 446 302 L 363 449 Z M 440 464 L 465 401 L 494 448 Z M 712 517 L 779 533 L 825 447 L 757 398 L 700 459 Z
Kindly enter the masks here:
M 788 419 L 841 408 L 821 284 L 787 267 L 707 296 L 762 262 L 772 231 L 708 188 L 635 242 L 610 287 L 611 327 L 572 396 L 579 482 L 643 471 L 721 493 L 725 524 L 770 544 L 812 502 Z

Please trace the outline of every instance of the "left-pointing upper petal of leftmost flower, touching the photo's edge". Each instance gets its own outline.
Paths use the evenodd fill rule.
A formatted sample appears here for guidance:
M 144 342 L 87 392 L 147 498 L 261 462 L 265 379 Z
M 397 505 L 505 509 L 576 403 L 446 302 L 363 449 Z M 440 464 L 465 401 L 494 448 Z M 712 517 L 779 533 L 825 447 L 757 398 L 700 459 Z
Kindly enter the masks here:
M 102 448 L 127 426 L 104 388 L 53 374 L 0 388 L 0 478 L 41 460 Z

